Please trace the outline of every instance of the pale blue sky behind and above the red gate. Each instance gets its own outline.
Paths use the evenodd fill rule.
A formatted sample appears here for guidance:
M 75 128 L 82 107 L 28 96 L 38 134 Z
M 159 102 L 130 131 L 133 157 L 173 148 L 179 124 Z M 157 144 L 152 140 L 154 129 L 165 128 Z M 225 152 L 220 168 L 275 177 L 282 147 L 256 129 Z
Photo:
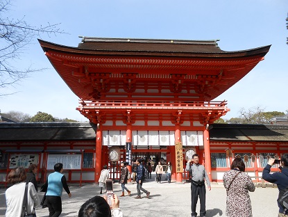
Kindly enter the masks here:
M 264 111 L 288 110 L 287 0 L 49 0 L 11 1 L 8 17 L 24 17 L 33 26 L 58 24 L 69 34 L 41 35 L 42 40 L 77 47 L 82 36 L 99 38 L 147 38 L 171 40 L 216 40 L 225 51 L 272 45 L 261 61 L 242 80 L 215 100 L 228 101 L 224 119 L 239 116 L 239 110 L 260 106 Z M 42 111 L 56 118 L 86 121 L 78 111 L 78 97 L 71 92 L 37 38 L 26 47 L 19 67 L 48 68 L 35 72 L 2 96 L 0 109 L 35 115 Z M 3 91 L 3 90 L 1 90 Z

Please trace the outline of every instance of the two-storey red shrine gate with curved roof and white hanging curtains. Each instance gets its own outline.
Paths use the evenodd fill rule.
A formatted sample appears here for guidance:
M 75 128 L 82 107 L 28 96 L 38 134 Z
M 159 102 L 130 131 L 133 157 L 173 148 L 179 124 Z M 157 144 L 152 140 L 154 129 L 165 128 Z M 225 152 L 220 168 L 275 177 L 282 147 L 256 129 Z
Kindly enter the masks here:
M 78 111 L 96 126 L 95 182 L 109 151 L 118 147 L 125 159 L 127 144 L 132 156 L 166 152 L 177 168 L 175 144 L 181 143 L 184 153 L 201 156 L 211 179 L 209 125 L 230 111 L 226 101 L 211 100 L 248 74 L 270 47 L 223 51 L 214 40 L 85 37 L 78 47 L 39 42 L 81 99 Z M 172 179 L 182 181 L 182 168 Z

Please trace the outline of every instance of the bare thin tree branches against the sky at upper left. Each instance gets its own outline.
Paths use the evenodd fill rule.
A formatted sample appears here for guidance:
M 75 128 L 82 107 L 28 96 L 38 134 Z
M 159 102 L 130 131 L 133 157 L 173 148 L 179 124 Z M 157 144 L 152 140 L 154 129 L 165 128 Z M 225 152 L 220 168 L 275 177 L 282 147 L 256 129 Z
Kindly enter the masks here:
M 46 26 L 37 27 L 26 23 L 25 17 L 22 19 L 6 17 L 5 14 L 11 6 L 10 0 L 0 0 L 0 88 L 2 89 L 27 78 L 31 72 L 44 70 L 33 69 L 31 66 L 26 69 L 15 67 L 15 61 L 21 58 L 25 47 L 35 36 L 65 33 L 58 29 L 59 24 L 48 23 Z M 8 94 L 0 92 L 0 96 L 3 95 Z

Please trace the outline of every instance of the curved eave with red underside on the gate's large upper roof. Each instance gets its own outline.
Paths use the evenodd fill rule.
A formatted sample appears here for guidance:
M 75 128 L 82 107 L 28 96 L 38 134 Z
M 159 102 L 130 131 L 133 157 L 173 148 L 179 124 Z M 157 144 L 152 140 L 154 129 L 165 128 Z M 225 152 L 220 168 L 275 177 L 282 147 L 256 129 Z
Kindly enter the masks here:
M 93 99 L 95 91 L 83 70 L 85 68 L 93 73 L 212 76 L 215 82 L 208 84 L 203 93 L 204 100 L 210 101 L 248 74 L 271 47 L 229 52 L 220 49 L 219 52 L 119 51 L 87 50 L 43 40 L 39 42 L 60 77 L 82 99 Z

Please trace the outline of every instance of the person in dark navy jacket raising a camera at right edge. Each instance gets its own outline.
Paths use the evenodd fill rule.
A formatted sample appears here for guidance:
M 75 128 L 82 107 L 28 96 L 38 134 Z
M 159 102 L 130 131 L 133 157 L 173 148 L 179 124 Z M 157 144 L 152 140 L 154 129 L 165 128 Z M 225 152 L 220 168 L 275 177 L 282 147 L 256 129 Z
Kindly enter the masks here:
M 262 178 L 267 182 L 277 184 L 279 195 L 278 200 L 288 191 L 288 154 L 282 154 L 280 159 L 280 170 L 281 172 L 274 172 L 270 174 L 271 167 L 275 164 L 275 159 L 271 158 L 268 161 L 268 164 L 263 170 Z M 278 201 L 279 214 L 278 216 L 288 216 L 288 211 L 285 207 L 282 207 Z

